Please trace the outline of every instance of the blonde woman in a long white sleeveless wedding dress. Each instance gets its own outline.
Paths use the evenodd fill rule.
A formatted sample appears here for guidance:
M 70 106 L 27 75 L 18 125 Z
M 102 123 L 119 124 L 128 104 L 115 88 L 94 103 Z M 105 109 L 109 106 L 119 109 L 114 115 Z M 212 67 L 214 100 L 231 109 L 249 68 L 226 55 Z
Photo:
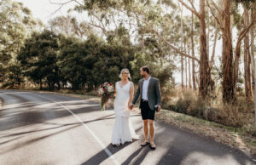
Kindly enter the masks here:
M 134 94 L 134 85 L 128 80 L 128 78 L 131 78 L 129 70 L 123 69 L 119 77 L 121 81 L 115 83 L 115 100 L 113 103 L 115 122 L 112 145 L 116 146 L 125 144 L 125 142 L 132 142 L 132 139 L 139 139 L 129 120 L 129 105 L 131 105 Z

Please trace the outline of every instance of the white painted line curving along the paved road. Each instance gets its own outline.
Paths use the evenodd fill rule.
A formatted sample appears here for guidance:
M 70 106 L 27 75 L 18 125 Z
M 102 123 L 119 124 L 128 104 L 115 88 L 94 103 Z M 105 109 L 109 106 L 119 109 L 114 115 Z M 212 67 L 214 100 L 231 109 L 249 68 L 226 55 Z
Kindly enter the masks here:
M 102 146 L 102 149 L 108 154 L 108 156 L 113 160 L 113 162 L 114 162 L 116 165 L 119 165 L 119 164 L 120 164 L 120 163 L 115 159 L 115 157 L 113 156 L 113 153 L 112 153 L 111 151 L 109 151 L 108 148 L 107 148 L 107 146 L 102 143 L 101 139 L 99 139 L 99 138 L 96 136 L 96 134 L 94 134 L 94 132 L 93 132 L 90 128 L 88 128 L 88 127 L 84 124 L 84 122 L 83 122 L 78 116 L 76 116 L 76 115 L 73 113 L 73 111 L 69 110 L 65 105 L 62 105 L 61 103 L 59 103 L 59 102 L 57 102 L 57 101 L 55 101 L 55 100 L 49 99 L 49 98 L 47 98 L 47 97 L 44 97 L 44 96 L 41 96 L 41 95 L 38 95 L 38 94 L 33 94 L 33 95 L 37 95 L 37 96 L 42 97 L 42 98 L 44 98 L 44 99 L 54 101 L 56 104 L 61 105 L 64 109 L 66 109 L 67 111 L 69 111 L 74 117 L 76 117 L 76 118 L 78 119 L 79 122 L 81 122 L 81 123 L 83 124 L 84 128 L 86 128 L 86 129 L 89 131 L 89 133 L 96 139 L 96 141 Z

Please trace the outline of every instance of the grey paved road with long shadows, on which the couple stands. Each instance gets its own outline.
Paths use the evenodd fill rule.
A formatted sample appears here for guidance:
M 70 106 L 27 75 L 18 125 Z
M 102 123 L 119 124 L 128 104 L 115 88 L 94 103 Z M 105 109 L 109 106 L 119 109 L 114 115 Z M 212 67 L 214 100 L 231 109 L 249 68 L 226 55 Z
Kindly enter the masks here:
M 141 147 L 141 117 L 131 121 L 141 140 L 110 144 L 113 110 L 56 94 L 0 90 L 0 164 L 255 164 L 241 151 L 156 122 L 156 151 Z

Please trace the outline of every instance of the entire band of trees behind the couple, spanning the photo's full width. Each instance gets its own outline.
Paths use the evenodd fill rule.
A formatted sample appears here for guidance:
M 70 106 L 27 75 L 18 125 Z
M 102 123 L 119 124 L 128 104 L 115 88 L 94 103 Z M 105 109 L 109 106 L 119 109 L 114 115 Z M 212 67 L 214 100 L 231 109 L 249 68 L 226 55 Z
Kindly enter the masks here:
M 149 65 L 162 87 L 175 85 L 176 70 L 181 88 L 193 88 L 203 100 L 253 100 L 255 0 L 95 0 L 46 26 L 21 3 L 3 0 L 0 8 L 3 87 L 19 86 L 26 77 L 49 89 L 71 83 L 91 90 L 117 81 L 124 67 L 137 82 L 139 68 Z

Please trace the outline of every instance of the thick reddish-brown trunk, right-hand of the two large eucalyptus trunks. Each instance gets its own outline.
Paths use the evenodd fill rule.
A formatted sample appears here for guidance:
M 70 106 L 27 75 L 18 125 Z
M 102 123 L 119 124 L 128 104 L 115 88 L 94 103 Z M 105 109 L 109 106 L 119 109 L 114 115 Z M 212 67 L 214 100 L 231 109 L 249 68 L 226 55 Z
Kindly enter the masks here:
M 223 52 L 222 52 L 222 63 L 223 63 L 223 100 L 224 102 L 230 102 L 234 99 L 234 84 L 232 74 L 232 62 L 233 62 L 233 51 L 232 51 L 232 37 L 230 30 L 230 0 L 223 1 L 224 9 L 224 29 L 223 29 Z

